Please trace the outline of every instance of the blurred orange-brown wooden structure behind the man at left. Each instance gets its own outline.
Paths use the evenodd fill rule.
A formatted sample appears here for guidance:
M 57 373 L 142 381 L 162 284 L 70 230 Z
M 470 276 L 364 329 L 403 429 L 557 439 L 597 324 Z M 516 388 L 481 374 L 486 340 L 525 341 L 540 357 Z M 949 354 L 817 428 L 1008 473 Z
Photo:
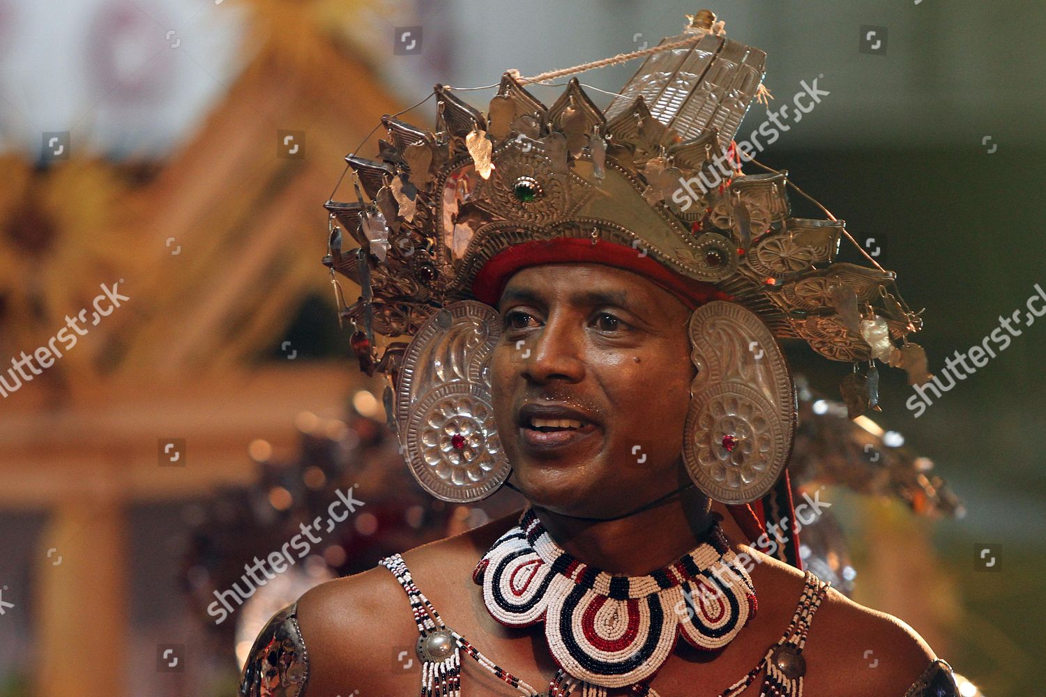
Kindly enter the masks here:
M 0 399 L 0 507 L 49 511 L 31 608 L 40 695 L 127 694 L 130 504 L 245 483 L 251 440 L 290 448 L 295 415 L 342 414 L 359 379 L 293 347 L 283 365 L 256 358 L 308 294 L 329 292 L 322 204 L 341 156 L 401 107 L 302 5 L 254 9 L 255 57 L 158 171 L 0 163 L 0 355 L 46 346 L 101 283 L 130 297 Z M 278 130 L 304 133 L 301 157 L 278 157 Z M 186 440 L 186 466 L 160 466 L 165 438 Z

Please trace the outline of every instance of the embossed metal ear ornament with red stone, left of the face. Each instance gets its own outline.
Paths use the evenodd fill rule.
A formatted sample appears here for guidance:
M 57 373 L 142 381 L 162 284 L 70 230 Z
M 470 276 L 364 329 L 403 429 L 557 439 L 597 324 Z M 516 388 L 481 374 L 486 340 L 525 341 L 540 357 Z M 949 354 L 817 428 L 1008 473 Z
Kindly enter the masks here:
M 462 300 L 430 316 L 403 355 L 395 390 L 400 441 L 414 479 L 436 498 L 485 498 L 511 471 L 490 385 L 500 334 L 497 310 Z

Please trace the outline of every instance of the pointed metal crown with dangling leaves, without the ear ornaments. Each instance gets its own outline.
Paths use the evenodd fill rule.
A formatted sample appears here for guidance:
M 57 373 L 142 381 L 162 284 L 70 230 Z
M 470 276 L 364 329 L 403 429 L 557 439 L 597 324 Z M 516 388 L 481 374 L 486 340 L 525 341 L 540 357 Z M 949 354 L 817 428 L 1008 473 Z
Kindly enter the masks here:
M 778 339 L 925 381 L 925 354 L 907 342 L 922 320 L 895 274 L 836 262 L 844 222 L 792 217 L 788 171 L 742 173 L 730 157 L 766 54 L 717 33 L 709 15 L 663 39 L 676 47 L 649 55 L 606 112 L 576 78 L 546 107 L 509 71 L 485 115 L 436 85 L 434 132 L 384 116 L 379 159 L 346 158 L 357 201 L 325 204 L 324 263 L 364 287 L 342 316 L 366 325 L 367 350 L 372 331 L 412 335 L 473 299 L 477 272 L 507 247 L 579 237 L 714 284 Z M 345 250 L 345 232 L 358 249 Z

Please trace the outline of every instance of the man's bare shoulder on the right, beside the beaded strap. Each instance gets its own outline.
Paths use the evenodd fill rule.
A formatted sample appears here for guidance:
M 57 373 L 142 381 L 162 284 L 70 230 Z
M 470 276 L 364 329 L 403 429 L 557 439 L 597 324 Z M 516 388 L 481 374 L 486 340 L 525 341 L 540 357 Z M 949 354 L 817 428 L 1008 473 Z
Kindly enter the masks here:
M 759 594 L 759 611 L 766 589 L 776 608 L 771 621 L 787 625 L 802 593 L 803 573 L 747 545 L 740 549 L 757 562 L 752 578 Z M 831 587 L 814 615 L 803 654 L 806 694 L 835 695 L 839 686 L 845 684 L 849 697 L 902 697 L 936 658 L 908 624 L 855 603 Z

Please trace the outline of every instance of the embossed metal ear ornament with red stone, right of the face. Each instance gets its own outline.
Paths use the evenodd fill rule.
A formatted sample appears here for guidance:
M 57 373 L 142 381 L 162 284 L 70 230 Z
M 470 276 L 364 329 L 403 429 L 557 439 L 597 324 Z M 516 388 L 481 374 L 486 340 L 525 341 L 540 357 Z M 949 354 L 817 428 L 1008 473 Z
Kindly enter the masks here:
M 747 504 L 765 495 L 792 452 L 796 394 L 780 347 L 749 309 L 722 300 L 690 315 L 690 384 L 683 462 L 709 497 Z

